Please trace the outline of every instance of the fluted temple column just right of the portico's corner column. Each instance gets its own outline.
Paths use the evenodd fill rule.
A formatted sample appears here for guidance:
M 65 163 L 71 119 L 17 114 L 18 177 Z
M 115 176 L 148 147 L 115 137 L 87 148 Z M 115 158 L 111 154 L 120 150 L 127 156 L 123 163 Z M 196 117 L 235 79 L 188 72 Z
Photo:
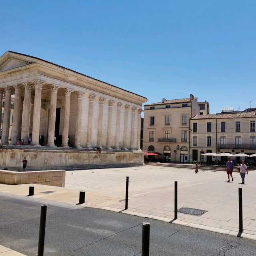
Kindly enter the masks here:
M 50 114 L 48 124 L 48 140 L 47 145 L 50 147 L 56 147 L 54 144 L 55 135 L 55 122 L 56 122 L 56 106 L 57 106 L 57 92 L 60 86 L 51 84 L 51 102 L 50 102 Z

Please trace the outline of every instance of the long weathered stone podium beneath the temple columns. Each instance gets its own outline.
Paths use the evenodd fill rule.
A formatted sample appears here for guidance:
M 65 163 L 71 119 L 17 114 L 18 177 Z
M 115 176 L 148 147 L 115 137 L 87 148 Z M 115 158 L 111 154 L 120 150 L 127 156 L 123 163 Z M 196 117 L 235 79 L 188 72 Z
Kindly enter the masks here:
M 49 149 L 0 149 L 0 169 L 22 170 L 22 160 L 28 160 L 27 170 L 91 169 L 142 166 L 142 151 L 96 151 Z

